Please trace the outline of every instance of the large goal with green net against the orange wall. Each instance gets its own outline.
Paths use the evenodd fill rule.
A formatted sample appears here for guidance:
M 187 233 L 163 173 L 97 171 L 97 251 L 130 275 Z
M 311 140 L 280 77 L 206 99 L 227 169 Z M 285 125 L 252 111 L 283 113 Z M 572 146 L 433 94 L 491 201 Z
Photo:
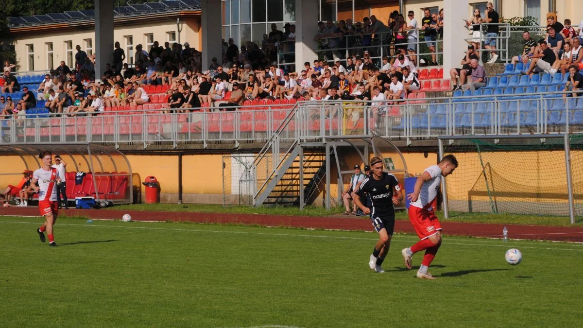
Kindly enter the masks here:
M 451 139 L 454 138 L 454 139 Z M 459 166 L 446 179 L 448 211 L 583 215 L 583 136 L 440 137 Z M 571 175 L 567 174 L 566 153 Z

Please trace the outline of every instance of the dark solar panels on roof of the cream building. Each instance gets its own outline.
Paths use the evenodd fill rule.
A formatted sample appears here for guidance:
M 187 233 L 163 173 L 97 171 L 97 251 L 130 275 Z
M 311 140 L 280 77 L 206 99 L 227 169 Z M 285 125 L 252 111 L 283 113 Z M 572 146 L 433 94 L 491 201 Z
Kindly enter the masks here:
M 200 11 L 200 0 L 178 0 L 178 1 L 158 1 L 145 2 L 144 4 L 134 4 L 123 7 L 114 7 L 114 18 L 132 18 L 153 13 L 175 12 L 175 11 Z M 10 17 L 9 27 L 41 26 L 58 23 L 88 22 L 95 19 L 93 9 L 80 11 L 67 11 L 64 13 L 47 13 L 47 15 L 33 15 Z

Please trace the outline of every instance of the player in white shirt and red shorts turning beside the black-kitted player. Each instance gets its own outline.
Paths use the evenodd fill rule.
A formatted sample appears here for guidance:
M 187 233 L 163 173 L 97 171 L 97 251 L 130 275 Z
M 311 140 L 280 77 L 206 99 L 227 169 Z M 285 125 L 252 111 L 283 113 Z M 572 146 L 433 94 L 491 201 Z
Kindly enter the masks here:
M 430 166 L 417 178 L 413 193 L 407 195 L 411 201 L 409 207 L 409 220 L 421 238 L 415 245 L 401 251 L 405 266 L 412 268 L 411 259 L 413 254 L 425 250 L 423 261 L 417 271 L 417 278 L 435 279 L 427 272 L 431 261 L 435 258 L 437 250 L 441 245 L 441 224 L 435 214 L 435 209 L 431 208 L 431 203 L 436 199 L 440 188 L 441 177 L 451 175 L 458 167 L 458 160 L 454 155 L 447 155 L 438 165 Z

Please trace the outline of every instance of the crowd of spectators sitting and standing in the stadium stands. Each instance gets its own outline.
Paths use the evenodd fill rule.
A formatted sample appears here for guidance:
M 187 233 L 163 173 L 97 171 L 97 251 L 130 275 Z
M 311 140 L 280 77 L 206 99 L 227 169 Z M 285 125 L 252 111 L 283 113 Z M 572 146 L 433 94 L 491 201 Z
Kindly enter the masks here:
M 402 13 L 392 12 L 387 25 L 374 15 L 363 18 L 363 22 L 350 19 L 337 24 L 318 22 L 314 39 L 318 41 L 321 58 L 305 62 L 297 72 L 291 70 L 291 65 L 277 63 L 278 56 L 283 56 L 283 62 L 289 61 L 287 56 L 294 51 L 296 26 L 291 24 L 286 24 L 283 31 L 272 24 L 272 31 L 264 34 L 261 46 L 247 42 L 238 47 L 233 39 L 223 42 L 222 62 L 212 58 L 208 68 L 201 67 L 201 52 L 188 43 L 182 46 L 166 42 L 160 46 L 157 41 L 148 51 L 138 44 L 134 65 L 130 67 L 124 64 L 126 54 L 120 43 L 115 42 L 113 62 L 100 74 L 100 83 L 95 82 L 94 55 L 87 55 L 79 46 L 72 69 L 61 61 L 35 89 L 27 85 L 21 88 L 12 73 L 15 65 L 5 62 L 2 86 L 5 95 L 0 97 L 0 110 L 3 116 L 22 118 L 27 110 L 39 106 L 50 113 L 79 116 L 103 112 L 108 107 L 136 109 L 146 103 L 159 104 L 157 108 L 173 112 L 208 107 L 234 110 L 257 100 L 278 99 L 286 103 L 296 100 L 398 103 L 407 99 L 409 93 L 422 89 L 423 76 L 417 70 L 418 39 L 423 36 L 431 55 L 429 64 L 436 65 L 436 40 L 443 33 L 443 9 L 439 13 L 425 9 L 420 23 L 413 11 L 407 16 L 408 20 Z M 473 39 L 461 60 L 462 67 L 449 71 L 453 90 L 476 90 L 487 85 L 480 48 L 491 54 L 488 62 L 498 58 L 499 17 L 491 2 L 487 3 L 484 16 L 476 10 L 466 21 L 473 29 Z M 482 24 L 487 25 L 482 28 Z M 581 88 L 578 71 L 583 68 L 581 29 L 577 32 L 568 19 L 562 25 L 554 16 L 549 17 L 547 24 L 543 40 L 535 41 L 531 33 L 523 33 L 524 50 L 512 58 L 512 64 L 521 63 L 521 73 L 527 75 L 560 72 L 566 81 L 565 88 L 578 90 Z M 376 61 L 381 47 L 383 57 Z M 382 114 L 385 107 L 377 107 L 375 113 Z

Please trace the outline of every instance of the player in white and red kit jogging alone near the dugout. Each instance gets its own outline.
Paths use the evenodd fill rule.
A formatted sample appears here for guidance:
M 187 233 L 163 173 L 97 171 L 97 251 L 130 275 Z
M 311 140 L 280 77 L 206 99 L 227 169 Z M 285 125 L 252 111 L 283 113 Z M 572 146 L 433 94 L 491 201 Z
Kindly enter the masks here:
M 48 246 L 57 246 L 52 234 L 52 226 L 57 221 L 59 204 L 57 202 L 57 183 L 61 183 L 61 177 L 57 169 L 52 168 L 52 153 L 43 151 L 38 155 L 43 164 L 34 171 L 30 186 L 38 191 L 38 209 L 40 215 L 46 219 L 43 225 L 37 229 L 41 242 L 45 242 L 44 231 L 47 231 Z M 36 183 L 38 182 L 38 187 Z

